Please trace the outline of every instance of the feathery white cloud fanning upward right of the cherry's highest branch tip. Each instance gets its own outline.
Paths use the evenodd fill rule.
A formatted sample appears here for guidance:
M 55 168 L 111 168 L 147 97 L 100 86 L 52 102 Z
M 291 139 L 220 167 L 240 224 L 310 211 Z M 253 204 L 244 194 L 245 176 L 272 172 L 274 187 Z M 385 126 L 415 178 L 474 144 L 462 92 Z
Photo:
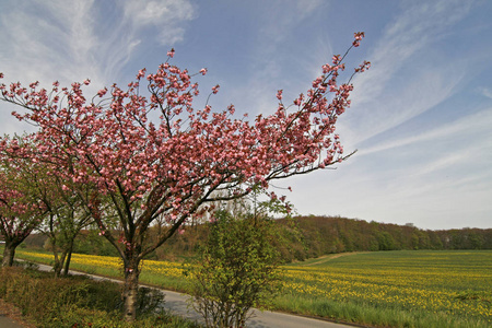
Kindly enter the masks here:
M 449 26 L 467 15 L 471 2 L 406 3 L 368 56 L 371 70 L 354 81 L 356 114 L 348 114 L 343 120 L 353 143 L 433 108 L 456 91 L 466 74 L 464 67 L 449 70 L 448 63 L 429 52 Z

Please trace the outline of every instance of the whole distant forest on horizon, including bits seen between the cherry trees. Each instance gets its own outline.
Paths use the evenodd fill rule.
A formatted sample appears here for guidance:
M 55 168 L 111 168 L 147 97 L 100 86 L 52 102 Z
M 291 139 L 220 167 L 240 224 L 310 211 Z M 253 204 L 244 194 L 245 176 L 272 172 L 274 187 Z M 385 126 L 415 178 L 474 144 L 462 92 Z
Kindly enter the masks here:
M 304 260 L 344 251 L 399 249 L 492 249 L 492 229 L 421 230 L 406 225 L 366 222 L 339 216 L 295 216 L 276 221 L 277 238 L 272 241 L 284 262 Z M 152 259 L 183 260 L 196 255 L 207 239 L 207 224 L 187 226 L 151 255 Z M 34 234 L 27 247 L 45 247 L 46 237 Z M 82 231 L 75 253 L 114 255 L 115 249 L 98 231 Z

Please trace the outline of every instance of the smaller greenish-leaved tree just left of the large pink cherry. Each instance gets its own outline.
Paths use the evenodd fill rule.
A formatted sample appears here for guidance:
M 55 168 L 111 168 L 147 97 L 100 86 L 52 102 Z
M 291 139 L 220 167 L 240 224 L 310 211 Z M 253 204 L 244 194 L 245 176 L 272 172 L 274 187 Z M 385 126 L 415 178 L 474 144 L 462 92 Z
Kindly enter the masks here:
M 92 192 L 91 185 L 77 185 L 77 191 L 68 188 L 70 180 L 61 180 L 61 176 L 50 171 L 50 164 L 33 160 L 30 155 L 33 149 L 42 148 L 31 139 L 31 136 L 14 136 L 2 139 L 0 155 L 3 157 L 4 184 L 3 189 L 15 189 L 17 195 L 24 196 L 22 201 L 15 200 L 15 196 L 4 196 L 3 203 L 10 201 L 23 206 L 22 215 L 30 216 L 24 221 L 33 221 L 28 227 L 39 230 L 49 238 L 49 249 L 55 257 L 55 277 L 59 277 L 61 270 L 68 274 L 70 257 L 73 249 L 74 238 L 84 226 L 91 223 L 89 213 L 81 202 L 81 195 Z M 14 151 L 15 150 L 15 151 Z M 10 172 L 10 176 L 5 175 Z M 73 185 L 73 184 L 72 184 Z M 15 191 L 11 190 L 11 191 Z M 13 198 L 12 198 L 13 197 Z M 39 222 L 39 209 L 43 208 L 45 220 Z M 17 213 L 17 215 L 21 215 Z M 36 223 L 34 225 L 34 223 Z M 65 267 L 65 268 L 63 268 Z

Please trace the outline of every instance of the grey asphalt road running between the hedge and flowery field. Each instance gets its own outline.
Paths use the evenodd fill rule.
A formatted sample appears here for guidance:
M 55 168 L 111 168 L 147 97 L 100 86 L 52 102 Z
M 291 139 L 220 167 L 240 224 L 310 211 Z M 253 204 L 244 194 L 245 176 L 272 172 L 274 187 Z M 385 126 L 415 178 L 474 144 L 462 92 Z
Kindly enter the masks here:
M 42 271 L 51 271 L 50 266 L 38 265 Z M 81 274 L 89 276 L 94 280 L 109 280 L 114 282 L 121 283 L 120 280 L 87 274 L 84 272 L 78 272 L 70 270 L 70 274 Z M 160 289 L 161 290 L 161 289 Z M 165 294 L 164 308 L 172 314 L 186 317 L 188 319 L 202 323 L 202 317 L 189 307 L 187 300 L 190 297 L 187 294 L 161 290 Z M 295 316 L 279 312 L 270 311 L 259 311 L 253 309 L 253 316 L 246 321 L 248 328 L 347 328 L 354 327 L 349 325 L 336 324 L 327 320 L 320 320 L 316 318 L 308 318 L 303 316 Z M 0 327 L 3 328 L 2 318 L 0 317 Z M 9 327 L 9 326 L 5 326 Z M 12 326 L 11 328 L 16 328 L 19 326 Z M 355 326 L 361 327 L 361 326 Z M 10 328 L 10 327 L 9 327 Z

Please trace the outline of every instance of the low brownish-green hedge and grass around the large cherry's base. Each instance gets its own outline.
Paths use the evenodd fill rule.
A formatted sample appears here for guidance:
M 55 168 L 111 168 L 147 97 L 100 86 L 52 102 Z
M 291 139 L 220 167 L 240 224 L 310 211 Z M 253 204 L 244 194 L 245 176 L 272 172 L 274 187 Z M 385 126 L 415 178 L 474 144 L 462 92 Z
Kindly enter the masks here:
M 75 276 L 54 279 L 49 272 L 20 267 L 0 269 L 0 297 L 15 305 L 40 328 L 194 328 L 198 325 L 160 311 L 164 295 L 139 290 L 139 316 L 122 318 L 121 286 Z

